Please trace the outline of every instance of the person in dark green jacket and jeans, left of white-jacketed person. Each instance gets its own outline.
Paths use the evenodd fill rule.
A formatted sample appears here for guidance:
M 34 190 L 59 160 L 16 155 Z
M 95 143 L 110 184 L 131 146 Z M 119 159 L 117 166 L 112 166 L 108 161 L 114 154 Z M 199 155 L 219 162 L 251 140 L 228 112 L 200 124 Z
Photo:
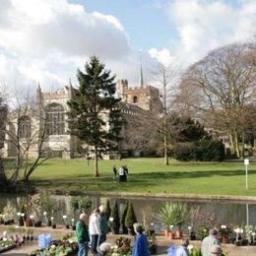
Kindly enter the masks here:
M 88 256 L 88 243 L 90 241 L 88 226 L 88 216 L 81 214 L 76 224 L 76 236 L 78 240 L 78 256 Z

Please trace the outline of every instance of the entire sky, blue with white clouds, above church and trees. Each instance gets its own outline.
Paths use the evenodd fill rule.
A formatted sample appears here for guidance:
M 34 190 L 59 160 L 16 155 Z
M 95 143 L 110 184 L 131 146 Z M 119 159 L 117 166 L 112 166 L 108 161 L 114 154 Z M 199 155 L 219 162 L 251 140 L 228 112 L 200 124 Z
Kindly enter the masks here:
M 255 32 L 256 0 L 4 0 L 0 85 L 76 84 L 77 69 L 97 55 L 135 86 L 140 55 L 145 72 L 158 62 L 185 69 Z M 147 74 L 145 81 L 154 84 Z

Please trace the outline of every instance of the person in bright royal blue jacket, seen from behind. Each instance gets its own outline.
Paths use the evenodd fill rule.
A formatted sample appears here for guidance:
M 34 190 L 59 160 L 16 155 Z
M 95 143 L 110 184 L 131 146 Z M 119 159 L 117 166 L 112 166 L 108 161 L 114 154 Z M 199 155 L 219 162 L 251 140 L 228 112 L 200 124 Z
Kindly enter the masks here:
M 142 224 L 133 224 L 133 227 L 136 233 L 133 245 L 133 256 L 149 256 L 148 240 L 146 235 L 143 234 Z

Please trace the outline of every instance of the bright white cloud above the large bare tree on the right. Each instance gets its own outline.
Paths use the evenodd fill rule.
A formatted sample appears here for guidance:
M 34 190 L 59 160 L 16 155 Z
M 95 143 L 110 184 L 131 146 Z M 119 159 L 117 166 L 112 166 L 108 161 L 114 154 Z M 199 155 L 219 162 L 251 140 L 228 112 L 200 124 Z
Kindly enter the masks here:
M 165 58 L 187 64 L 197 61 L 216 47 L 248 40 L 256 28 L 256 1 L 241 1 L 240 6 L 216 0 L 172 0 L 167 13 L 178 32 Z M 151 49 L 162 55 L 166 49 Z M 166 62 L 166 59 L 165 59 Z

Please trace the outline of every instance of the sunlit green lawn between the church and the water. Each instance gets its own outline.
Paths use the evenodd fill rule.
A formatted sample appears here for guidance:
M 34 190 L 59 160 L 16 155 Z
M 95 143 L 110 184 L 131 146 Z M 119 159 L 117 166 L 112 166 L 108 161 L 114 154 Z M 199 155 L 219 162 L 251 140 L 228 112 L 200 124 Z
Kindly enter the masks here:
M 112 165 L 126 164 L 128 182 L 112 181 Z M 243 160 L 228 162 L 180 162 L 162 159 L 99 160 L 100 177 L 94 177 L 94 162 L 53 159 L 32 174 L 38 188 L 65 192 L 111 191 L 162 194 L 206 194 L 256 197 L 256 162 L 249 165 L 249 189 L 245 189 Z

